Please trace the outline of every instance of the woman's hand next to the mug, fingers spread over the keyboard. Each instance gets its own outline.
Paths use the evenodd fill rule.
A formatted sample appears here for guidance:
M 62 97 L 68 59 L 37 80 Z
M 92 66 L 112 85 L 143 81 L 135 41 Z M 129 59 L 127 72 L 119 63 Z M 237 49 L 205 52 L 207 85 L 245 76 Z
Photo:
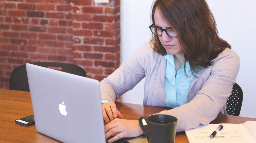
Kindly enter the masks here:
M 105 138 L 111 137 L 113 134 L 118 133 L 116 136 L 110 138 L 108 142 L 114 142 L 124 137 L 137 137 L 143 134 L 138 120 L 125 120 L 114 119 L 104 127 Z

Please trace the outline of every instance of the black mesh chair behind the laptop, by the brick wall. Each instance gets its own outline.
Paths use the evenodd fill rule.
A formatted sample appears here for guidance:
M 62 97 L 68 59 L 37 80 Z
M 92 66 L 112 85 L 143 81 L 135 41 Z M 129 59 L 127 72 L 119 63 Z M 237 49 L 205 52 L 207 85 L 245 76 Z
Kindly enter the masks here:
M 84 71 L 84 69 L 74 64 L 56 63 L 56 62 L 39 62 L 39 63 L 31 63 L 31 64 L 42 66 L 42 67 L 52 67 L 53 69 L 56 68 L 62 72 L 86 77 L 86 72 Z M 10 75 L 9 89 L 29 91 L 28 77 L 27 77 L 25 64 L 13 70 L 12 74 Z

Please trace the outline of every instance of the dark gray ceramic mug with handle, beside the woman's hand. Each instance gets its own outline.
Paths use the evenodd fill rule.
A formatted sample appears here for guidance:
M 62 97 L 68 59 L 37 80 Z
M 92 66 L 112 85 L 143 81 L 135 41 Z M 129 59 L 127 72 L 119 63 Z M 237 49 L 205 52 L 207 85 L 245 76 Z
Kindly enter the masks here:
M 145 119 L 147 123 L 148 133 L 142 119 Z M 143 116 L 139 119 L 141 129 L 149 143 L 174 143 L 177 121 L 178 119 L 174 116 L 161 114 Z

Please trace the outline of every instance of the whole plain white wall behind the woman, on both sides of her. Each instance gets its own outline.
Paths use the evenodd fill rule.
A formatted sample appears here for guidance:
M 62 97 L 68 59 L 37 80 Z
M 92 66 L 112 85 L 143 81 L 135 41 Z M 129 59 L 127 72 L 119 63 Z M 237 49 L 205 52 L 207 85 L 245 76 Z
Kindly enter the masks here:
M 153 0 L 121 0 L 121 62 L 125 61 L 138 47 L 151 38 L 148 26 Z M 241 66 L 237 83 L 243 90 L 243 104 L 240 116 L 256 118 L 255 88 L 255 42 L 256 1 L 255 0 L 207 0 L 217 22 L 219 35 L 231 44 L 238 53 Z M 137 28 L 135 28 L 137 27 Z M 136 33 L 136 34 L 135 34 Z M 142 104 L 144 80 L 133 90 L 125 93 L 121 101 Z

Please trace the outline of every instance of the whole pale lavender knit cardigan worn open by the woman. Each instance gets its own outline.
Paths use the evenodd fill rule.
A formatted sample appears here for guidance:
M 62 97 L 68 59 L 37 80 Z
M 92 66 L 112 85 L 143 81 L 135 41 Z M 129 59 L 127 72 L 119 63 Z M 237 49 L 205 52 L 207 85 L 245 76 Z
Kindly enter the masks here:
M 187 104 L 159 112 L 178 119 L 176 132 L 207 125 L 219 113 L 226 114 L 240 66 L 240 58 L 229 48 L 214 59 L 212 66 L 198 71 L 193 78 Z M 145 77 L 144 105 L 165 105 L 166 59 L 152 49 L 150 41 L 137 49 L 118 69 L 100 82 L 101 99 L 115 101 Z

